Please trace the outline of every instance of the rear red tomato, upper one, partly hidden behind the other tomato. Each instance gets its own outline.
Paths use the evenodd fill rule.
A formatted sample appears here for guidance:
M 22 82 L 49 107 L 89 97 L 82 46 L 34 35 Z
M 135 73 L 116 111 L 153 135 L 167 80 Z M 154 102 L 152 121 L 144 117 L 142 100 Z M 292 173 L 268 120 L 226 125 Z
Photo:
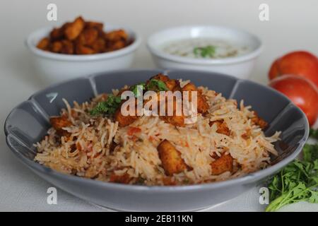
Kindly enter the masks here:
M 293 74 L 308 78 L 318 87 L 318 59 L 314 54 L 295 51 L 276 59 L 269 70 L 269 79 Z

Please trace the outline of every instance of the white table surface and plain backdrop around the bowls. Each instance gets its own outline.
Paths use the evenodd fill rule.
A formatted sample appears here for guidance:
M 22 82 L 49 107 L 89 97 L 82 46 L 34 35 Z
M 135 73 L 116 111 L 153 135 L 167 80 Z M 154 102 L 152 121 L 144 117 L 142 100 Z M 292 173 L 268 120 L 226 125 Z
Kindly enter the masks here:
M 0 8 L 0 121 L 13 107 L 35 91 L 45 88 L 38 81 L 29 54 L 23 45 L 28 33 L 55 23 L 46 20 L 46 6 L 53 1 L 3 1 Z M 169 0 L 161 1 L 54 1 L 58 6 L 58 21 L 71 20 L 78 14 L 86 18 L 128 25 L 139 30 L 146 40 L 151 32 L 171 25 L 214 23 L 244 28 L 259 35 L 266 49 L 259 58 L 251 79 L 267 82 L 267 71 L 273 59 L 293 49 L 308 49 L 318 54 L 316 0 L 307 1 L 240 1 L 236 0 Z M 270 20 L 260 22 L 258 6 L 270 6 Z M 232 7 L 229 7 L 232 5 Z M 138 13 L 136 13 L 138 12 Z M 177 16 L 175 16 L 177 14 Z M 173 18 L 173 19 L 172 19 Z M 155 68 L 145 45 L 136 53 L 134 68 Z M 47 204 L 47 189 L 52 186 L 11 154 L 0 130 L 0 211 L 105 211 L 86 201 L 57 190 L 57 205 Z M 262 211 L 258 188 L 221 203 L 209 211 Z M 318 205 L 298 203 L 281 210 L 318 211 Z

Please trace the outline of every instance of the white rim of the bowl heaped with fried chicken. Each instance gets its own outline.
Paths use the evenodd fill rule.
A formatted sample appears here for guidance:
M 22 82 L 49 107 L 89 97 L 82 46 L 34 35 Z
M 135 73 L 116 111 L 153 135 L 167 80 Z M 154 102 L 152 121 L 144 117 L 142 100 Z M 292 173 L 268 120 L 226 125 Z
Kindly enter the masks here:
M 30 35 L 28 35 L 28 37 L 25 38 L 25 46 L 30 50 L 30 52 L 35 54 L 37 57 L 44 57 L 46 59 L 54 59 L 59 61 L 98 61 L 102 59 L 122 57 L 123 55 L 134 52 L 140 46 L 142 42 L 141 35 L 139 35 L 138 32 L 131 30 L 131 28 L 122 26 L 122 25 L 108 24 L 107 28 L 110 28 L 110 30 L 122 28 L 123 30 L 130 32 L 131 36 L 134 38 L 134 42 L 132 42 L 131 44 L 129 44 L 128 46 L 122 49 L 114 50 L 112 52 L 105 52 L 105 53 L 99 53 L 99 54 L 87 54 L 87 55 L 57 54 L 54 52 L 47 52 L 42 49 L 38 49 L 35 46 L 35 44 L 33 44 L 33 40 L 36 38 L 40 39 L 40 38 L 46 37 L 46 36 L 43 36 L 43 33 L 48 33 L 50 30 L 52 30 L 52 28 L 54 28 L 54 26 L 39 28 L 31 32 Z

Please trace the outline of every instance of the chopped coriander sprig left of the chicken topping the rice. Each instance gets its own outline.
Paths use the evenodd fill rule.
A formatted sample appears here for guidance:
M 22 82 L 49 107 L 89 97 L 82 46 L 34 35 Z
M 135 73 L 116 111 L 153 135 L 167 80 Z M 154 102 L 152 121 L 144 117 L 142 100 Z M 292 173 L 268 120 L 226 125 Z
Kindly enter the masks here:
M 97 114 L 114 114 L 116 109 L 119 107 L 120 102 L 122 100 L 120 97 L 116 97 L 114 95 L 109 95 L 106 101 L 99 102 L 91 111 L 90 114 L 97 115 Z

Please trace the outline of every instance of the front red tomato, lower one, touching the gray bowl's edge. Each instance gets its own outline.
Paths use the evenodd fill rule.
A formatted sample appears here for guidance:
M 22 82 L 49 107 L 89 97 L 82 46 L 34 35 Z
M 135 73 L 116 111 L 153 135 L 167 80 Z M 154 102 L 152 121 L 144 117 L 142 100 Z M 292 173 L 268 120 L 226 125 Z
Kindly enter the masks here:
M 273 79 L 269 85 L 286 95 L 305 112 L 310 125 L 318 117 L 318 88 L 307 78 L 284 75 Z

